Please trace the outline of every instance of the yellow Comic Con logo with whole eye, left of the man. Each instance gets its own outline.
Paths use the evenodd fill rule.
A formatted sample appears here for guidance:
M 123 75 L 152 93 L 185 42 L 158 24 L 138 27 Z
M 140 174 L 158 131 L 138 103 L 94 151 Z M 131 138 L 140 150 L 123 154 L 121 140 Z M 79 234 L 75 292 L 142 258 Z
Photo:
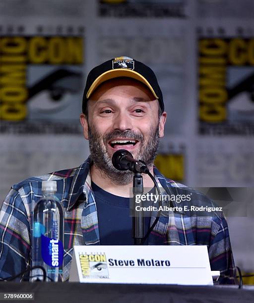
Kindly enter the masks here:
M 72 30 L 61 35 L 37 30 L 34 35 L 1 32 L 1 133 L 10 129 L 12 133 L 77 132 L 83 37 Z

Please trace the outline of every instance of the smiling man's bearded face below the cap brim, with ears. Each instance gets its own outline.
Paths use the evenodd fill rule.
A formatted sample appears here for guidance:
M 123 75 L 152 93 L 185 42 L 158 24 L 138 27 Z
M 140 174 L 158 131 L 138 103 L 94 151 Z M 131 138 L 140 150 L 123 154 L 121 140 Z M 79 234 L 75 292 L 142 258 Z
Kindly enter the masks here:
M 127 184 L 133 174 L 112 164 L 114 152 L 125 149 L 151 167 L 164 135 L 166 113 L 158 118 L 159 103 L 142 83 L 118 78 L 101 84 L 88 102 L 88 121 L 81 114 L 84 137 L 94 164 L 115 183 Z

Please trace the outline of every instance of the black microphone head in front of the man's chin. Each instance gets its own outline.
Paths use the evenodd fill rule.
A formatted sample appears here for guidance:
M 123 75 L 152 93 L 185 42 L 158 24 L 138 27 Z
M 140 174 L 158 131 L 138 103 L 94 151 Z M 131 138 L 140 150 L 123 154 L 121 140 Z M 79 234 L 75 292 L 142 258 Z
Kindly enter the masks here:
M 112 156 L 112 163 L 119 170 L 130 170 L 134 173 L 149 173 L 146 164 L 141 160 L 135 160 L 127 150 L 119 150 Z

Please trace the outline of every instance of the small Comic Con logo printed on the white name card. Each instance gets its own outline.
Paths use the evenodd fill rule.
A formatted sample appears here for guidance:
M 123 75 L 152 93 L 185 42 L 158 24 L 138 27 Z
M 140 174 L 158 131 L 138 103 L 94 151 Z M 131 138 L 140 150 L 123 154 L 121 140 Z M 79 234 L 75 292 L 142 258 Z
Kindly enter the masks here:
M 105 253 L 80 253 L 79 262 L 83 278 L 109 279 Z

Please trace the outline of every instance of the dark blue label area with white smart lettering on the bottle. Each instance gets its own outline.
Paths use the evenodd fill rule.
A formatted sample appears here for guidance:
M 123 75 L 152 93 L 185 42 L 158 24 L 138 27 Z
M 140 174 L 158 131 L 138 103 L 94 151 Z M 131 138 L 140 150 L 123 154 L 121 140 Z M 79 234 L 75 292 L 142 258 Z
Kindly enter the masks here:
M 63 264 L 64 247 L 61 241 L 42 235 L 41 247 L 42 258 L 47 265 L 52 267 L 59 267 Z

